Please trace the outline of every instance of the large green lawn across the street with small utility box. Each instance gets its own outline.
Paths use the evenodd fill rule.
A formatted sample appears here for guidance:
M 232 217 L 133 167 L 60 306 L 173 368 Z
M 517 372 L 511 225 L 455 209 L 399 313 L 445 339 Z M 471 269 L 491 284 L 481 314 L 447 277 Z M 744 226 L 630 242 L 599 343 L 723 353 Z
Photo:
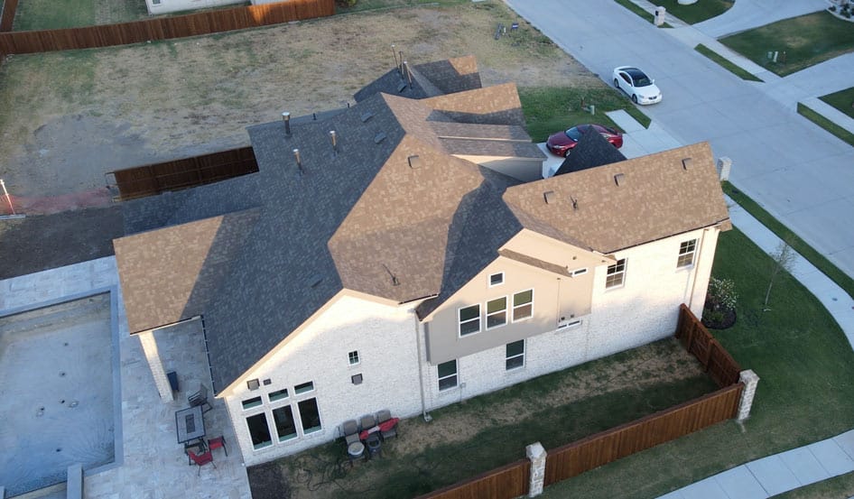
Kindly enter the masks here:
M 720 42 L 780 76 L 854 51 L 854 28 L 827 12 L 802 15 L 720 39 Z M 768 60 L 778 51 L 777 62 Z

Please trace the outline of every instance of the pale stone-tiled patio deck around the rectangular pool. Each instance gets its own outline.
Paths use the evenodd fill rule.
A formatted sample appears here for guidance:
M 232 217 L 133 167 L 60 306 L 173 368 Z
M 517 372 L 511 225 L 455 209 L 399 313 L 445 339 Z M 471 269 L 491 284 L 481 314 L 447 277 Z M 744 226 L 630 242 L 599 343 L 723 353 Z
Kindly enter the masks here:
M 189 393 L 202 380 L 209 379 L 200 321 L 188 321 L 154 333 L 163 365 L 167 370 L 177 371 L 181 383 L 181 393 L 175 401 L 164 403 L 154 387 L 139 339 L 128 334 L 114 257 L 0 281 L 0 315 L 103 290 L 115 295 L 117 305 L 120 376 L 116 383 L 120 385 L 116 390 L 121 393 L 121 407 L 116 411 L 121 413 L 121 425 L 116 428 L 119 443 L 116 447 L 120 451 L 112 465 L 86 469 L 84 496 L 87 499 L 250 499 L 246 467 L 223 402 L 211 400 L 213 409 L 205 413 L 207 436 L 226 438 L 229 455 L 215 450 L 216 468 L 188 466 L 175 437 L 175 411 L 187 407 Z M 85 369 L 82 363 L 77 364 L 76 368 Z M 47 375 L 52 379 L 56 373 L 51 371 Z M 39 383 L 40 376 L 32 374 L 34 383 Z M 10 484 L 0 486 L 5 486 L 7 492 L 12 489 Z M 51 494 L 56 491 L 46 490 L 43 496 Z

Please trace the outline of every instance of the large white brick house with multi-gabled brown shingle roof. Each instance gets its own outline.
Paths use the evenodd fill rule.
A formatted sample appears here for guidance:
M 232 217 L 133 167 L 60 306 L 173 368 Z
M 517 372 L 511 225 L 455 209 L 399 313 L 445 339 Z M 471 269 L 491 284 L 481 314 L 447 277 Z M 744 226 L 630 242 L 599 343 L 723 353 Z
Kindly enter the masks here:
M 536 180 L 515 86 L 481 88 L 470 58 L 438 67 L 455 65 L 456 88 L 398 68 L 395 93 L 251 126 L 257 173 L 125 204 L 129 330 L 170 400 L 151 331 L 203 319 L 246 465 L 365 413 L 426 416 L 668 336 L 681 303 L 701 312 L 729 228 L 709 144 Z M 396 95 L 413 82 L 417 98 Z

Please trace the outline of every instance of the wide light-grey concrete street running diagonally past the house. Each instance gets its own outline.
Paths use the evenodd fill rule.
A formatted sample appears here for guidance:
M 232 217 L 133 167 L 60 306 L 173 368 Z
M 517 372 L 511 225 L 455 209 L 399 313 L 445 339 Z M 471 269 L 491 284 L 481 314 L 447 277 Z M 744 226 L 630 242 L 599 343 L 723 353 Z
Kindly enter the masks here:
M 852 87 L 854 71 L 831 74 L 831 63 L 773 85 L 747 82 L 668 33 L 677 30 L 655 28 L 616 2 L 506 4 L 609 84 L 616 66 L 645 69 L 664 93 L 660 104 L 643 107 L 656 125 L 683 144 L 709 141 L 716 156 L 729 156 L 738 189 L 854 275 L 854 148 L 781 102 L 787 79 L 801 96 L 807 80 Z

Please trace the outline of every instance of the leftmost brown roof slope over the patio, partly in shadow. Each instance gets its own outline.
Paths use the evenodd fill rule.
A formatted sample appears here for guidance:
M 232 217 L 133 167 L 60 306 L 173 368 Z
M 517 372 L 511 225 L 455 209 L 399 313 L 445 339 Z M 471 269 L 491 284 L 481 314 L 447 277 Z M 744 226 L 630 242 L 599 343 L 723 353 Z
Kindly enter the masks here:
M 200 315 L 255 226 L 259 209 L 116 239 L 132 333 Z

